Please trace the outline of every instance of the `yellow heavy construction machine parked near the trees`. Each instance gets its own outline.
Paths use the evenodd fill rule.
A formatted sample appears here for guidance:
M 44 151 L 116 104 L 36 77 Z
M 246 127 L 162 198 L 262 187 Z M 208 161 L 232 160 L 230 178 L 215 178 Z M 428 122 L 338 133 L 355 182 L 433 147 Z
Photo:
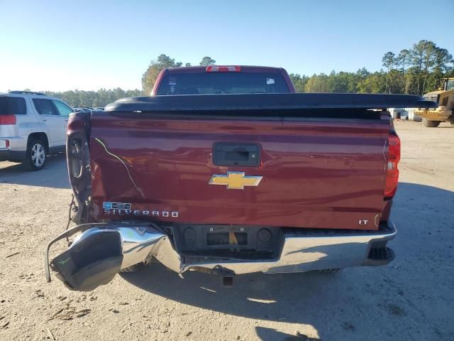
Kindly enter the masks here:
M 436 109 L 418 109 L 414 112 L 423 119 L 424 126 L 434 128 L 441 122 L 450 122 L 454 126 L 454 77 L 443 78 L 443 87 L 423 97 L 438 103 Z

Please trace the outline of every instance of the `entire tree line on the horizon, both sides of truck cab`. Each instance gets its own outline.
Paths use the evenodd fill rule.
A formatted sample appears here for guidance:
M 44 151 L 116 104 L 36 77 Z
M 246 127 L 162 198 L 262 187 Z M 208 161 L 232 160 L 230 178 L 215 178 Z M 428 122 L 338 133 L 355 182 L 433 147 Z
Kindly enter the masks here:
M 290 73 L 297 92 L 365 92 L 393 94 L 424 94 L 436 90 L 443 77 L 454 77 L 453 56 L 445 48 L 430 40 L 420 40 L 399 53 L 389 51 L 382 58 L 383 68 L 370 72 L 362 67 L 356 72 L 332 71 L 311 76 Z M 215 65 L 209 56 L 201 58 L 199 65 Z M 184 63 L 184 66 L 192 66 Z M 170 56 L 161 54 L 151 60 L 142 75 L 142 90 L 100 89 L 98 91 L 70 90 L 45 92 L 60 97 L 72 107 L 104 107 L 116 99 L 131 96 L 148 96 L 157 75 L 167 67 L 183 67 Z

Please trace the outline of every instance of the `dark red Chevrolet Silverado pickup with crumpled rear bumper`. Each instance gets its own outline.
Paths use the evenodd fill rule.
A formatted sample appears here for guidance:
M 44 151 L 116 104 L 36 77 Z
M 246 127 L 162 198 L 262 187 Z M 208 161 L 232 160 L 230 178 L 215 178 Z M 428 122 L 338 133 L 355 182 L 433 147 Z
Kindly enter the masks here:
M 241 94 L 238 94 L 241 92 Z M 157 259 L 233 276 L 388 264 L 400 142 L 391 94 L 296 94 L 287 72 L 188 67 L 154 96 L 74 113 L 67 132 L 78 225 L 50 269 L 89 291 Z M 74 239 L 49 262 L 50 246 Z

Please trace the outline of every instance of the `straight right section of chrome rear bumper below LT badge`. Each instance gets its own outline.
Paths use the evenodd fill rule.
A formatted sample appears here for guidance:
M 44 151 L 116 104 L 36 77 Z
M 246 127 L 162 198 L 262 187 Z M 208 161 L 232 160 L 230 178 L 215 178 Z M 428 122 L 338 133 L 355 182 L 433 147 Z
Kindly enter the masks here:
M 375 245 L 384 245 L 397 233 L 394 224 L 379 232 L 348 232 L 348 234 L 308 234 L 304 231 L 284 234 L 284 246 L 279 259 L 270 261 L 189 261 L 182 264 L 179 272 L 191 269 L 228 269 L 233 274 L 263 272 L 265 274 L 306 272 L 326 269 L 343 269 L 352 266 L 388 264 L 388 260 L 368 258 Z

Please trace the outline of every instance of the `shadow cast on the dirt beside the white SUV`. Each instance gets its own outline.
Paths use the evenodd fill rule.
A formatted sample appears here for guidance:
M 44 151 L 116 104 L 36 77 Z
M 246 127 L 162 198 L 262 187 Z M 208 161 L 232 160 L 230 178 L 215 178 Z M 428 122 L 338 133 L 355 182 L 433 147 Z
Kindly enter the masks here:
M 0 163 L 0 184 L 30 185 L 48 188 L 70 188 L 65 153 L 48 156 L 41 171 L 27 171 L 21 163 Z

